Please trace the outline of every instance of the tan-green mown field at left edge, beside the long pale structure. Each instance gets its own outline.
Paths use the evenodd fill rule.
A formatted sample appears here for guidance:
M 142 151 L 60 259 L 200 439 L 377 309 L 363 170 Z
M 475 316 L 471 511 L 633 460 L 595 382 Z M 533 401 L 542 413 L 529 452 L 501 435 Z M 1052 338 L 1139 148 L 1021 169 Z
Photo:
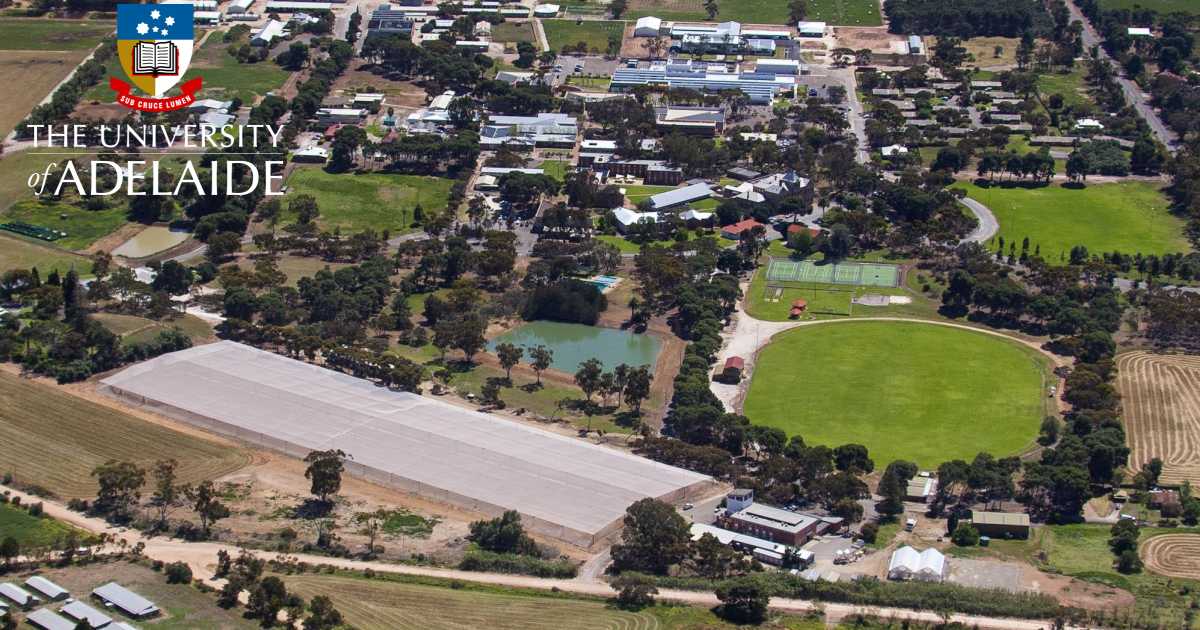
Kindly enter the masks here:
M 44 276 L 43 276 L 44 277 Z M 0 470 L 64 498 L 96 493 L 91 470 L 108 460 L 144 468 L 179 461 L 180 481 L 216 479 L 250 463 L 227 443 L 148 422 L 124 412 L 8 373 L 0 373 Z

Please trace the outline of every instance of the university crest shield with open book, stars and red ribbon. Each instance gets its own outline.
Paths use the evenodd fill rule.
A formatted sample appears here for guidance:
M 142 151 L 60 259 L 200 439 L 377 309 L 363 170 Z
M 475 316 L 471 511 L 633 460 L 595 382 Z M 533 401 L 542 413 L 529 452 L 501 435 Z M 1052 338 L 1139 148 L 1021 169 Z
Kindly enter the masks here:
M 196 102 L 200 78 L 184 83 L 179 96 L 164 97 L 184 78 L 194 43 L 192 5 L 118 5 L 116 58 L 130 78 L 109 77 L 116 102 L 142 112 L 170 112 Z M 133 88 L 151 97 L 137 96 Z

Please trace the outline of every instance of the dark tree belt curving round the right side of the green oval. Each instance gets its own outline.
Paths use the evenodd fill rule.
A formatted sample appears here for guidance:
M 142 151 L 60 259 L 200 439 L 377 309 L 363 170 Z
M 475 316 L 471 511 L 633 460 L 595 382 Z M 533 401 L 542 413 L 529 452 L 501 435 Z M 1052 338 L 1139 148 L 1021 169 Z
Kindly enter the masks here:
M 1025 282 L 1009 274 L 982 248 L 959 248 L 949 272 L 948 288 L 942 295 L 942 312 L 988 319 L 1000 326 L 1020 328 L 1049 334 L 1051 349 L 1073 355 L 1074 367 L 1066 379 L 1063 398 L 1072 406 L 1066 415 L 1066 432 L 1057 444 L 1042 451 L 1042 457 L 1024 466 L 1016 498 L 1037 517 L 1055 522 L 1079 518 L 1093 485 L 1121 482 L 1120 469 L 1128 460 L 1124 430 L 1118 416 L 1118 395 L 1112 385 L 1116 368 L 1112 334 L 1120 326 L 1122 306 L 1111 286 L 1111 270 L 1084 256 L 1067 265 L 1049 266 L 1040 257 L 1027 259 L 1031 272 Z M 1043 428 L 1044 442 L 1052 443 L 1057 427 Z M 998 474 L 985 475 L 985 487 L 995 497 L 1012 493 L 1012 462 L 996 462 Z M 955 469 L 942 474 L 955 479 Z M 970 470 L 960 476 L 967 479 Z M 978 473 L 974 474 L 978 479 Z M 952 484 L 942 481 L 942 490 Z

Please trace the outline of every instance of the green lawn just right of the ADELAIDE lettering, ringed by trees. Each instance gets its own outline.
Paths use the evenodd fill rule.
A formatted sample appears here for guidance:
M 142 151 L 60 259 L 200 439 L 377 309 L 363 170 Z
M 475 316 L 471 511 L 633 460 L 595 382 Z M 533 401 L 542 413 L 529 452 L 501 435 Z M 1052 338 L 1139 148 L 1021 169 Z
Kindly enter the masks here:
M 385 173 L 326 173 L 317 167 L 298 168 L 288 178 L 288 196 L 312 194 L 317 198 L 326 229 L 343 233 L 391 230 L 392 235 L 412 229 L 413 209 L 418 205 L 440 211 L 450 197 L 452 180 L 422 175 Z

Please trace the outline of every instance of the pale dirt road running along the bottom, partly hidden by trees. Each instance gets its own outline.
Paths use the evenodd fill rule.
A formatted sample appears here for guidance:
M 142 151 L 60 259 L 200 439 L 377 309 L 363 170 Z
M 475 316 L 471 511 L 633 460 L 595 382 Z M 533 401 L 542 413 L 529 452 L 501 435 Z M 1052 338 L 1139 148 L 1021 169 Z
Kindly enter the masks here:
M 68 522 L 91 532 L 94 534 L 110 534 L 116 539 L 125 540 L 130 547 L 133 547 L 138 542 L 145 545 L 144 553 L 146 557 L 162 560 L 164 563 L 184 562 L 192 568 L 192 574 L 198 578 L 206 581 L 212 584 L 221 583 L 223 581 L 216 581 L 212 578 L 214 569 L 216 565 L 216 557 L 218 551 L 226 551 L 230 556 L 236 557 L 241 550 L 233 545 L 223 545 L 220 542 L 187 542 L 178 539 L 169 539 L 163 536 L 144 538 L 140 532 L 112 527 L 100 518 L 92 518 L 89 516 L 80 515 L 67 510 L 60 503 L 35 498 L 23 492 L 18 492 L 14 488 L 6 488 L 0 486 L 2 490 L 10 490 L 13 496 L 20 497 L 22 502 L 41 502 L 46 514 L 53 518 Z M 108 547 L 109 551 L 114 546 Z M 250 553 L 263 558 L 274 559 L 278 558 L 280 553 L 265 552 L 250 550 Z M 613 596 L 614 593 L 612 588 L 599 580 L 548 580 L 542 577 L 528 577 L 520 575 L 508 575 L 508 574 L 485 574 L 474 571 L 460 571 L 456 569 L 437 569 L 432 566 L 412 566 L 402 564 L 389 564 L 383 562 L 365 562 L 365 560 L 349 560 L 344 558 L 328 558 L 324 556 L 311 556 L 306 553 L 292 553 L 288 554 L 296 562 L 304 562 L 308 564 L 325 564 L 330 566 L 337 566 L 341 569 L 348 569 L 354 571 L 373 570 L 377 572 L 389 572 L 389 574 L 401 574 L 401 575 L 419 575 L 430 577 L 442 577 L 449 580 L 461 580 L 463 582 L 479 582 L 486 584 L 499 584 L 508 587 L 521 587 L 521 588 L 534 588 L 541 590 L 563 590 L 568 593 L 577 593 L 582 595 L 593 595 L 608 598 Z M 712 593 L 701 593 L 691 590 L 673 590 L 662 589 L 659 592 L 660 600 L 677 601 L 682 604 L 690 604 L 696 606 L 715 606 L 719 604 L 716 596 Z M 874 606 L 853 606 L 848 604 L 832 604 L 832 602 L 816 602 L 809 600 L 798 599 L 785 599 L 785 598 L 772 598 L 770 607 L 786 611 L 786 612 L 812 612 L 823 611 L 827 620 L 832 623 L 841 622 L 846 618 L 853 617 L 856 614 L 869 614 L 888 619 L 912 619 L 923 623 L 942 623 L 943 618 L 940 614 L 932 612 L 911 611 L 905 608 L 888 608 L 888 607 L 874 607 Z M 952 619 L 959 622 L 964 625 L 980 629 L 991 630 L 1044 630 L 1050 626 L 1049 620 L 1032 620 L 1032 619 L 1008 619 L 1008 618 L 990 618 L 990 617 L 978 617 L 970 614 L 954 614 Z

